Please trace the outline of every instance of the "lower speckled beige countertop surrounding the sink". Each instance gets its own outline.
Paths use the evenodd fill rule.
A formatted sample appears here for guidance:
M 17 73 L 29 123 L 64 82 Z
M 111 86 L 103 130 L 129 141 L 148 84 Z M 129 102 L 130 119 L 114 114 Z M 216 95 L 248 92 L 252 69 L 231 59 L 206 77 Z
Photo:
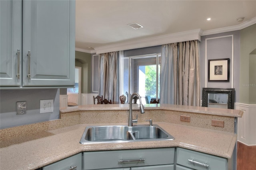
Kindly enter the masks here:
M 234 133 L 165 122 L 153 124 L 164 128 L 175 137 L 175 140 L 80 144 L 79 141 L 86 126 L 106 124 L 78 124 L 1 141 L 0 169 L 34 170 L 79 152 L 96 150 L 182 147 L 224 158 L 232 156 L 237 138 Z

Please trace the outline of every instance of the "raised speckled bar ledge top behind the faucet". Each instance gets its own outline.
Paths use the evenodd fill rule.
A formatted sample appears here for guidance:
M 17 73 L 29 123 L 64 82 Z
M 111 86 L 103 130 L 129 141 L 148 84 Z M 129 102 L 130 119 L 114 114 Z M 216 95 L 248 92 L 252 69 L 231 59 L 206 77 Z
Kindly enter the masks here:
M 227 117 L 242 117 L 243 111 L 235 109 L 219 109 L 210 107 L 196 107 L 184 105 L 170 105 L 170 104 L 146 104 L 146 110 L 168 110 L 168 111 L 182 111 L 188 113 L 200 113 L 206 115 L 219 115 Z M 139 105 L 133 104 L 132 109 L 138 110 Z M 107 111 L 107 110 L 129 110 L 129 104 L 112 104 L 112 105 L 79 105 L 66 108 L 60 108 L 60 113 L 70 113 L 74 111 Z

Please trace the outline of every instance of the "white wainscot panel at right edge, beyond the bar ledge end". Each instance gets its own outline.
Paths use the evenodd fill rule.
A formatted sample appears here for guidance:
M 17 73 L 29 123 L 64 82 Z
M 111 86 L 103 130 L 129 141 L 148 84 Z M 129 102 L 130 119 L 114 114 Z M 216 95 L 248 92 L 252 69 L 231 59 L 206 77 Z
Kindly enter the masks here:
M 244 112 L 238 118 L 237 140 L 248 146 L 256 146 L 256 104 L 235 103 L 235 109 Z

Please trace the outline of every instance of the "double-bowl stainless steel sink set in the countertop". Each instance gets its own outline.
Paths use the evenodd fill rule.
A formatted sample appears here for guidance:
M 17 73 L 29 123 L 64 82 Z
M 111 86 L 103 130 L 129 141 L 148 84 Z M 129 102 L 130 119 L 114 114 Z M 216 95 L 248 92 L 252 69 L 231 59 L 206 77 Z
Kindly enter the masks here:
M 174 140 L 174 137 L 158 125 L 138 126 L 90 126 L 86 127 L 80 143 L 132 142 L 147 140 Z

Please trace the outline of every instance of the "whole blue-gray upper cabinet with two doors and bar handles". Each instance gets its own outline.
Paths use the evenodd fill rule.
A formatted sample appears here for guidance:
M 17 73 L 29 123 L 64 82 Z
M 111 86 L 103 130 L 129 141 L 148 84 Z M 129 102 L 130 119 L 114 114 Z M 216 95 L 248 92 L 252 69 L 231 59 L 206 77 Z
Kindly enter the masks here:
M 75 78 L 75 1 L 0 1 L 0 85 L 71 87 Z

